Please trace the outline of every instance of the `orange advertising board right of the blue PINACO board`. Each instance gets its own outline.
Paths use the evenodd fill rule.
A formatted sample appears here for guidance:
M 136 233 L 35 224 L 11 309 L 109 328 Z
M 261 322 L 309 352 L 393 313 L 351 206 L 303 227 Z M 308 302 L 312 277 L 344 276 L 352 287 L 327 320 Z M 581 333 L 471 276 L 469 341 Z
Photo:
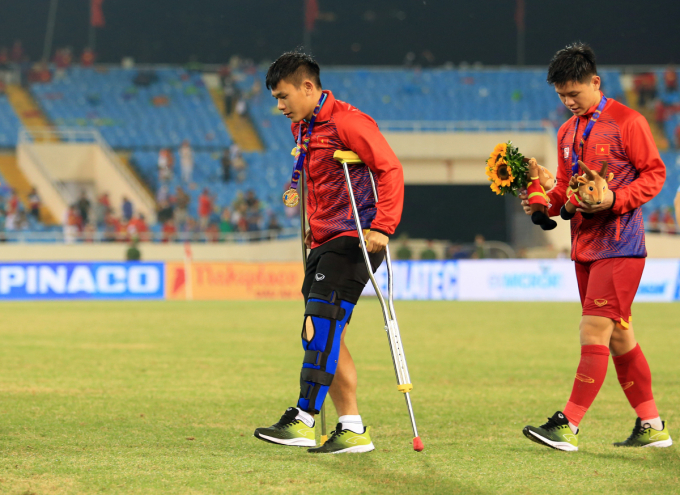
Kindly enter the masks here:
M 304 279 L 302 264 L 170 262 L 165 265 L 166 298 L 196 300 L 298 300 Z

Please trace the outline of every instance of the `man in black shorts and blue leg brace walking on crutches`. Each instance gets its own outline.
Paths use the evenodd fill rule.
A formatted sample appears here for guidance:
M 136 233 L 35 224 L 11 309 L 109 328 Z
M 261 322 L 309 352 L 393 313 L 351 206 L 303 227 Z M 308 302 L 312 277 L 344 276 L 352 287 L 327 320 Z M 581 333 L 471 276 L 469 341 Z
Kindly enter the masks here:
M 399 224 L 404 176 L 399 160 L 375 121 L 321 87 L 319 65 L 302 53 L 284 53 L 267 72 L 266 84 L 278 109 L 291 120 L 296 139 L 296 173 L 304 167 L 311 248 L 302 285 L 305 319 L 297 406 L 278 423 L 257 428 L 255 436 L 279 445 L 314 447 L 314 415 L 327 393 L 338 413 L 338 425 L 314 453 L 368 452 L 374 449 L 356 399 L 357 375 L 344 335 L 354 306 L 369 280 L 359 247 L 342 166 L 336 150 L 354 151 L 365 165 L 350 167 L 359 217 L 373 271 L 384 258 L 389 236 Z M 368 168 L 367 168 L 368 167 Z M 379 203 L 373 197 L 373 172 Z M 299 175 L 297 176 L 299 177 Z M 290 190 L 288 191 L 290 192 Z M 286 194 L 288 194 L 288 192 Z

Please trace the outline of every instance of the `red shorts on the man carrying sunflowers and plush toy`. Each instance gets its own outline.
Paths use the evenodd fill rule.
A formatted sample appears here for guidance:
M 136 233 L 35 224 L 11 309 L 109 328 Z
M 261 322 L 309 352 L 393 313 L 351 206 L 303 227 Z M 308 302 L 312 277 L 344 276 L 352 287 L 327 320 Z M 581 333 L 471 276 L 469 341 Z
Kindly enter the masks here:
M 606 258 L 575 265 L 583 315 L 611 318 L 628 328 L 645 259 Z

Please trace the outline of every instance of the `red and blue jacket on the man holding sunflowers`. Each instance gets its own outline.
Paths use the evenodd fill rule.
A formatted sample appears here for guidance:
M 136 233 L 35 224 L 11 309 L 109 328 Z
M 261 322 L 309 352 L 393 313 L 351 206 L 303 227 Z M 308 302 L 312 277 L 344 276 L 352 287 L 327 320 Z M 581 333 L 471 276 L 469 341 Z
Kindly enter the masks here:
M 599 101 L 598 101 L 599 104 Z M 574 143 L 578 150 L 583 131 L 597 105 L 580 117 L 573 116 L 557 133 L 557 186 L 548 193 L 550 216 L 559 215 L 566 201 Z M 578 135 L 574 128 L 579 119 Z M 571 220 L 571 259 L 587 263 L 604 258 L 644 258 L 645 229 L 640 206 L 656 196 L 666 180 L 652 132 L 645 118 L 635 110 L 609 98 L 586 141 L 581 160 L 592 170 L 606 160 L 614 178 L 609 188 L 616 198 L 610 210 L 595 213 L 588 220 L 576 213 Z M 583 173 L 583 171 L 580 171 Z

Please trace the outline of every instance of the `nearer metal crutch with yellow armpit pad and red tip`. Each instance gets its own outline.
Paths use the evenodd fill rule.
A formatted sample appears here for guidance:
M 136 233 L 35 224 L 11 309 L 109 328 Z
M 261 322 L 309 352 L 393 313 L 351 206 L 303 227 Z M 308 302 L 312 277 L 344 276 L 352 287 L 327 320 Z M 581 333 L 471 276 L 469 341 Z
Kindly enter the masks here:
M 406 407 L 408 408 L 408 414 L 411 418 L 411 427 L 413 428 L 413 449 L 418 452 L 422 451 L 425 447 L 423 441 L 418 436 L 418 429 L 416 428 L 416 418 L 413 415 L 413 406 L 411 405 L 411 397 L 409 392 L 413 390 L 413 385 L 411 384 L 411 377 L 408 374 L 408 366 L 406 365 L 406 355 L 404 354 L 404 347 L 401 344 L 401 336 L 399 334 L 399 325 L 397 324 L 397 313 L 394 311 L 394 301 L 393 301 L 393 277 L 392 277 L 392 259 L 390 257 L 390 248 L 385 246 L 385 261 L 387 263 L 387 297 L 388 304 L 385 303 L 385 298 L 378 287 L 378 283 L 373 276 L 373 269 L 371 267 L 371 261 L 368 257 L 368 250 L 366 249 L 366 240 L 364 239 L 363 229 L 361 228 L 361 220 L 359 219 L 359 211 L 357 210 L 356 200 L 354 199 L 354 190 L 352 189 L 352 181 L 349 175 L 348 164 L 359 164 L 363 163 L 359 155 L 353 151 L 336 151 L 333 154 L 333 158 L 342 164 L 345 171 L 345 181 L 347 182 L 347 191 L 349 192 L 349 200 L 352 205 L 352 214 L 354 215 L 354 222 L 357 227 L 357 232 L 359 234 L 359 243 L 361 245 L 361 252 L 364 255 L 364 261 L 366 262 L 366 269 L 368 270 L 368 276 L 371 279 L 373 288 L 375 289 L 375 294 L 378 296 L 378 301 L 380 301 L 380 307 L 383 312 L 383 319 L 385 320 L 385 331 L 387 332 L 387 338 L 390 342 L 390 351 L 392 353 L 392 362 L 394 363 L 394 373 L 397 375 L 397 390 L 404 394 L 406 399 Z M 375 198 L 376 204 L 378 203 L 378 193 L 375 188 L 375 181 L 373 180 L 373 174 L 370 169 L 368 170 L 368 175 L 371 178 L 371 186 L 373 186 L 373 196 Z

